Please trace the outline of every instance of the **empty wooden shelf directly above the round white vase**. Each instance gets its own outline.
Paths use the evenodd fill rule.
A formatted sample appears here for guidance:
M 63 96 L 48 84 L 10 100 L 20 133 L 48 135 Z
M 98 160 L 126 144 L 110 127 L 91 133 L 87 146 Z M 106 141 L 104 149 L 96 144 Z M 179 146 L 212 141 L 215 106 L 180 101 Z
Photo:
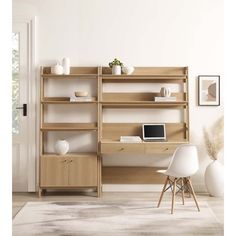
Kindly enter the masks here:
M 97 130 L 97 123 L 44 123 L 42 131 L 87 131 Z

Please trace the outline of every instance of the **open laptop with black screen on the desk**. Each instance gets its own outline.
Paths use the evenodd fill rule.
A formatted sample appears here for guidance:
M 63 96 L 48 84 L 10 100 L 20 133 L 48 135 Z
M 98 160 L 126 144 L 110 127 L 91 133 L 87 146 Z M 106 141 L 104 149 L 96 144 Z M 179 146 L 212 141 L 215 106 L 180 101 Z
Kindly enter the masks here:
M 166 141 L 165 124 L 143 124 L 144 141 Z

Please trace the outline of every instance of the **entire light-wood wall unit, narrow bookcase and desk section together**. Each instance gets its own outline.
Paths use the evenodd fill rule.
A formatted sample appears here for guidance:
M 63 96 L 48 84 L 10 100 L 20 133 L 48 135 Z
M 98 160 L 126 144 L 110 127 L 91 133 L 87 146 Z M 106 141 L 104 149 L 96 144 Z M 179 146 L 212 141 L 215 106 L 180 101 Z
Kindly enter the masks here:
M 96 94 L 89 102 L 70 102 L 69 96 L 46 96 L 47 82 L 53 80 L 96 82 Z M 113 91 L 104 91 L 104 86 L 112 84 Z M 176 101 L 155 102 L 154 97 L 160 96 L 159 89 L 153 91 L 119 92 L 115 87 L 134 84 L 175 84 L 179 88 L 171 96 Z M 114 92 L 115 91 L 115 92 Z M 71 94 L 70 94 L 71 95 Z M 105 184 L 156 184 L 162 181 L 156 173 L 157 167 L 140 166 L 104 166 L 104 154 L 171 154 L 176 147 L 189 142 L 189 91 L 187 67 L 136 67 L 131 75 L 112 75 L 108 67 L 72 67 L 70 75 L 53 75 L 49 67 L 41 68 L 41 121 L 40 121 L 40 168 L 39 195 L 47 189 L 96 188 L 97 196 L 101 193 L 101 182 Z M 52 123 L 45 120 L 48 106 L 87 106 L 93 105 L 96 110 L 96 122 Z M 166 142 L 121 143 L 120 136 L 135 135 L 142 137 L 142 122 L 106 122 L 105 110 L 178 110 L 181 120 L 164 122 L 166 124 Z M 65 117 L 70 113 L 65 110 Z M 120 113 L 121 114 L 121 113 Z M 160 123 L 157 119 L 153 123 Z M 161 122 L 163 123 L 163 121 Z M 50 132 L 96 133 L 96 150 L 91 152 L 69 152 L 58 156 L 47 151 L 48 134 Z

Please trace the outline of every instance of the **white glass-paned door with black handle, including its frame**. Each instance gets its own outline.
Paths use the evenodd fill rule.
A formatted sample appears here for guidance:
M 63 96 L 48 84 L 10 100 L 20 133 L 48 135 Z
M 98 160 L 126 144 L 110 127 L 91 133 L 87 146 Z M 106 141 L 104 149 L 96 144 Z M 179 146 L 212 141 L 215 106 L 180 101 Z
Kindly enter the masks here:
M 35 191 L 35 121 L 32 122 L 30 23 L 13 20 L 12 182 L 14 192 Z M 29 129 L 30 127 L 30 129 Z

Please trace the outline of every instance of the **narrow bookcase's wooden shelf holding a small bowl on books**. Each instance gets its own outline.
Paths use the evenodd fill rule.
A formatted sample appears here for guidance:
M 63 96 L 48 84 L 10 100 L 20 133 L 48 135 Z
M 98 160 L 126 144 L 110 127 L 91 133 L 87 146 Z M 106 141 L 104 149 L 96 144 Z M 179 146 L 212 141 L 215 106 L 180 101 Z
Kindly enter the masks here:
M 90 104 L 97 103 L 96 97 L 92 97 L 92 101 L 75 101 L 71 102 L 69 97 L 45 97 L 42 104 Z

